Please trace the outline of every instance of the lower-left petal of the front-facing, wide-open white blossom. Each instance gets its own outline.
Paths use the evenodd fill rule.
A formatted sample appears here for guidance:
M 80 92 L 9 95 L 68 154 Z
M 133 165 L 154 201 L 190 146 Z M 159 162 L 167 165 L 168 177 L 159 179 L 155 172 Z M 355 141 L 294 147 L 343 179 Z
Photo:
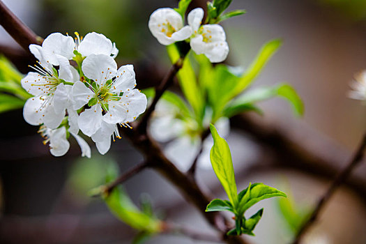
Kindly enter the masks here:
M 82 132 L 90 137 L 93 135 L 102 124 L 102 107 L 100 104 L 96 104 L 90 109 L 86 109 L 77 119 L 79 128 Z

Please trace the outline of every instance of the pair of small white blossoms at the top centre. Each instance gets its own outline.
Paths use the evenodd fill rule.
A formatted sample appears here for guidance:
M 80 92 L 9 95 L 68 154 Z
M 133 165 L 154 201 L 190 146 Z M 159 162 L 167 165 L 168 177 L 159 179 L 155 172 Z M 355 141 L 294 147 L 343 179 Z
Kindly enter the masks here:
M 219 24 L 203 24 L 204 10 L 195 8 L 188 14 L 188 25 L 172 8 L 155 10 L 148 21 L 148 28 L 158 42 L 170 45 L 181 40 L 190 40 L 196 54 L 204 54 L 212 63 L 224 61 L 229 54 L 225 31 Z

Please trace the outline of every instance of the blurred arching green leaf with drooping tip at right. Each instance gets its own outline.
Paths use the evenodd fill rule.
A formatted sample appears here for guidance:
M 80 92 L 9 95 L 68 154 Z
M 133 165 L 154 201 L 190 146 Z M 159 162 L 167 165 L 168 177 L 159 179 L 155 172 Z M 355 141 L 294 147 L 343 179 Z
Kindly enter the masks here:
M 236 109 L 240 109 L 245 106 L 252 105 L 254 102 L 259 102 L 261 100 L 267 100 L 269 98 L 273 98 L 275 96 L 280 96 L 286 99 L 293 107 L 293 112 L 300 116 L 304 112 L 303 101 L 300 96 L 296 93 L 296 90 L 293 89 L 289 84 L 278 84 L 276 86 L 269 87 L 261 87 L 258 89 L 253 89 L 251 91 L 247 91 L 239 98 L 236 98 L 233 102 L 230 102 L 229 105 L 225 108 L 229 110 L 228 113 L 236 114 Z M 233 111 L 234 110 L 234 111 Z M 227 112 L 227 111 L 225 111 Z M 229 116 L 228 116 L 229 117 Z

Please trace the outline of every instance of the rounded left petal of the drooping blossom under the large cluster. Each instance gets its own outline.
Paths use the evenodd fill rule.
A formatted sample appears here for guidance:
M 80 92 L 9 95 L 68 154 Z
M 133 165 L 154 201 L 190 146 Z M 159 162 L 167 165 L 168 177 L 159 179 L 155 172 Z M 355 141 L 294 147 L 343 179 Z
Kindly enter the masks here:
M 70 143 L 68 139 L 66 139 L 66 128 L 61 127 L 56 130 L 52 130 L 49 147 L 51 148 L 49 151 L 55 157 L 60 157 L 65 155 L 68 152 L 68 148 L 70 148 Z

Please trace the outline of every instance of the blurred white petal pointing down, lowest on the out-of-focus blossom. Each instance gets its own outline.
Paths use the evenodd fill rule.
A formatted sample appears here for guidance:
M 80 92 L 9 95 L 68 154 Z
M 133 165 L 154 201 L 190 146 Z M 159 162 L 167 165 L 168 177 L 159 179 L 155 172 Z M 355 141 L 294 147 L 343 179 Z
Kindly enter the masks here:
M 192 165 L 195 156 L 199 151 L 199 138 L 191 139 L 190 137 L 181 137 L 169 143 L 165 148 L 165 155 L 174 162 L 174 165 L 187 171 Z

